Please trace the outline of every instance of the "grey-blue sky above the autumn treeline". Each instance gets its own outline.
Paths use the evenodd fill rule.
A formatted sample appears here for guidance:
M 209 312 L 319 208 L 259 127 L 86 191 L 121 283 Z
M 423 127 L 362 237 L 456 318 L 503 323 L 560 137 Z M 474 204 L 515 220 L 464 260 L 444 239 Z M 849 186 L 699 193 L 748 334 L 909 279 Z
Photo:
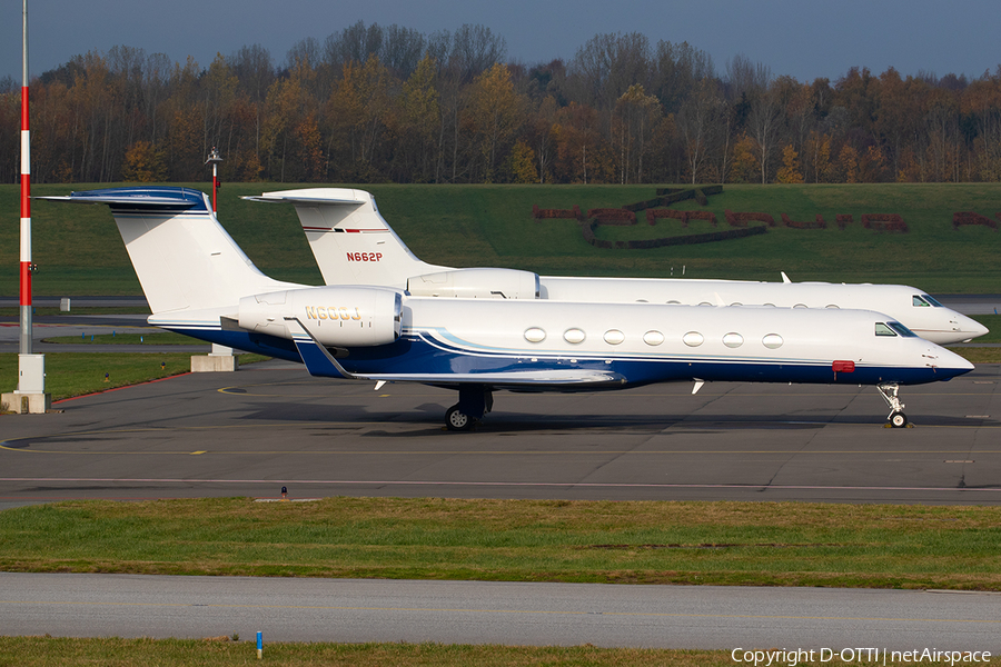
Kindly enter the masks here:
M 0 77 L 18 84 L 21 8 L 4 0 L 0 18 Z M 571 60 L 599 32 L 632 31 L 653 44 L 687 41 L 720 73 L 743 54 L 800 81 L 835 80 L 853 66 L 977 78 L 1001 63 L 998 0 L 29 0 L 28 11 L 33 76 L 116 44 L 208 67 L 216 52 L 259 43 L 283 63 L 298 40 L 359 20 L 424 33 L 480 23 L 504 37 L 509 60 L 529 64 Z

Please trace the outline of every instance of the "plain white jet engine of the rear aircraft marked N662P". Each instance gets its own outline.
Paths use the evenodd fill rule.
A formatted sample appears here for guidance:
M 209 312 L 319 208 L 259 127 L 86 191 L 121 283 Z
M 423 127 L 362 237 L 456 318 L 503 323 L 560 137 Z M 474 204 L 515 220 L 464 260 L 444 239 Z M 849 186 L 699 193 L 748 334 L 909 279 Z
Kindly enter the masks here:
M 515 269 L 455 269 L 407 280 L 415 297 L 463 299 L 537 299 L 538 276 Z

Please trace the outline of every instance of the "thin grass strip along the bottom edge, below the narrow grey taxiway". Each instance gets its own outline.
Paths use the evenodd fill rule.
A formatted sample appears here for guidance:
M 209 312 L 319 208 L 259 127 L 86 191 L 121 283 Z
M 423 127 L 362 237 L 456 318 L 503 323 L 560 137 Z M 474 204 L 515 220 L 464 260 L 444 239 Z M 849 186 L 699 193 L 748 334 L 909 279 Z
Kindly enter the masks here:
M 596 646 L 497 646 L 446 644 L 288 644 L 265 643 L 264 664 L 285 667 L 723 667 L 729 650 L 664 650 Z M 0 637 L 0 666 L 160 665 L 227 667 L 259 665 L 255 641 L 206 639 L 122 639 Z M 752 663 L 753 664 L 753 663 Z M 820 663 L 816 663 L 820 664 Z M 841 666 L 840 658 L 823 663 Z M 852 665 L 876 663 L 854 660 Z M 984 665 L 985 663 L 980 663 Z M 1001 664 L 992 659 L 992 665 Z M 811 663 L 800 663 L 811 665 Z

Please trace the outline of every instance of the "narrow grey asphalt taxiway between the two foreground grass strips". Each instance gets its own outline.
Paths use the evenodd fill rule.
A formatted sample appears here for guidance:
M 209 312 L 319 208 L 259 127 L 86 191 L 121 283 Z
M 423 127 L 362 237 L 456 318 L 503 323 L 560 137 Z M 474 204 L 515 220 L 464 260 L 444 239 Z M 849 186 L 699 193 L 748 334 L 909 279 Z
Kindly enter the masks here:
M 261 631 L 265 657 L 269 641 L 740 648 L 742 660 L 783 647 L 816 651 L 813 664 L 822 648 L 1001 651 L 998 594 L 2 573 L 0 590 L 0 635 Z

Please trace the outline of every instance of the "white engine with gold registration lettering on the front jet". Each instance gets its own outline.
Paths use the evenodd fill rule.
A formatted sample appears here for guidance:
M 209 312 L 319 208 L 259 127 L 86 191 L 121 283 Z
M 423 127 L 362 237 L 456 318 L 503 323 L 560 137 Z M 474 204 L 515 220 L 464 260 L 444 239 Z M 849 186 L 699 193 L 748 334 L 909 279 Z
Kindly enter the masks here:
M 241 329 L 291 339 L 295 318 L 321 345 L 371 347 L 399 338 L 400 292 L 376 287 L 310 287 L 240 299 Z

